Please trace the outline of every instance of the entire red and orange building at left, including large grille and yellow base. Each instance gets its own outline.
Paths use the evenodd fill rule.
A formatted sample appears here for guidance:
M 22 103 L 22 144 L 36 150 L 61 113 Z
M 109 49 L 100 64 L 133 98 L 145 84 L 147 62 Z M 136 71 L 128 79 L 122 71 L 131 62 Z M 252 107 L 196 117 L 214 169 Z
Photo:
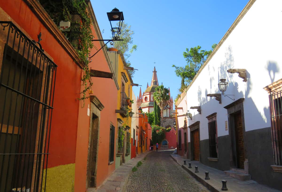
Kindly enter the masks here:
M 87 5 L 92 33 L 102 39 L 90 1 Z M 115 168 L 115 155 L 109 154 L 111 134 L 114 146 L 117 138 L 115 75 L 92 77 L 94 93 L 82 108 L 77 98 L 84 64 L 39 1 L 0 1 L 0 21 L 5 21 L 0 23 L 0 158 L 8 167 L 0 191 L 81 192 L 101 185 Z M 99 49 L 103 42 L 94 45 Z M 89 67 L 112 73 L 105 48 Z M 15 155 L 6 155 L 11 152 Z

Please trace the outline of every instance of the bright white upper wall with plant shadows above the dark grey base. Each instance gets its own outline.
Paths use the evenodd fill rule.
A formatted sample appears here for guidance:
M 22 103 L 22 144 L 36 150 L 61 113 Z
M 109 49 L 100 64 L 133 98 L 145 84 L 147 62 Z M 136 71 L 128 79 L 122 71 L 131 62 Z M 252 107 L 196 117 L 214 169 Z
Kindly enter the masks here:
M 282 77 L 281 7 L 280 0 L 255 1 L 187 91 L 187 108 L 193 115 L 188 125 L 200 121 L 200 140 L 208 139 L 206 116 L 214 112 L 217 112 L 218 137 L 228 134 L 224 123 L 228 120 L 227 110 L 223 107 L 233 101 L 222 96 L 219 104 L 215 97 L 206 96 L 219 93 L 220 78 L 229 82 L 226 94 L 233 94 L 230 97 L 235 101 L 245 99 L 246 131 L 270 127 L 268 94 L 263 87 Z M 246 69 L 247 82 L 237 73 L 228 73 L 228 69 Z M 191 106 L 201 106 L 202 114 L 190 109 Z

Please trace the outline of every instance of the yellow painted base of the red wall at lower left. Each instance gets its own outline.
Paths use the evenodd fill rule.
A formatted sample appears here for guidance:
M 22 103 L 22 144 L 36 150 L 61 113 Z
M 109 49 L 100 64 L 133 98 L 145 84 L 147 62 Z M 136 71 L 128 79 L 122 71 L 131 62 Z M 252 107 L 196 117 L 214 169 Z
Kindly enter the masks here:
M 59 165 L 47 169 L 46 192 L 74 192 L 75 163 Z M 42 191 L 45 186 L 45 171 Z

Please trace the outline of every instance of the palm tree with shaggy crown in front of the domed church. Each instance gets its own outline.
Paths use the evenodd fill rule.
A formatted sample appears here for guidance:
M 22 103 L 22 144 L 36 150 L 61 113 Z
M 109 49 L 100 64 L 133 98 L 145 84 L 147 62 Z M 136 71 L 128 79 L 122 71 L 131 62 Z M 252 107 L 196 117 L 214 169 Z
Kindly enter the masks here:
M 167 88 L 164 88 L 163 85 L 160 85 L 160 86 L 156 87 L 155 92 L 153 94 L 154 100 L 156 101 L 157 105 L 161 109 L 162 120 L 163 120 L 164 107 L 167 105 L 166 103 L 169 100 L 168 93 L 169 93 L 169 90 Z

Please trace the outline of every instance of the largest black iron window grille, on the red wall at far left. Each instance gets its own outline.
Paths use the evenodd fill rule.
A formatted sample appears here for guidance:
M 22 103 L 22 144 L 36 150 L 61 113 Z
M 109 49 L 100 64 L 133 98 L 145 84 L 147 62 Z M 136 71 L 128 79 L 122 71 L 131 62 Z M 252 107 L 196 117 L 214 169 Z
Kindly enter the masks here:
M 57 66 L 41 33 L 35 42 L 10 21 L 0 28 L 0 191 L 45 191 Z

